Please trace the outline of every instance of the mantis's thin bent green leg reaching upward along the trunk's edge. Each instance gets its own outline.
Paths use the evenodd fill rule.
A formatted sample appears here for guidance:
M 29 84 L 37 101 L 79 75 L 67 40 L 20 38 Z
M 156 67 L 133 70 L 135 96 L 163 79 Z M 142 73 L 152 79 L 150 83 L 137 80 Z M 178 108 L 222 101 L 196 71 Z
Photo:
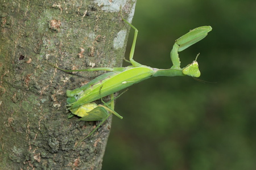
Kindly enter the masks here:
M 131 45 L 131 52 L 130 52 L 130 57 L 129 57 L 129 60 L 130 60 L 130 63 L 134 66 L 134 67 L 139 67 L 139 66 L 142 66 L 140 63 L 134 61 L 133 59 L 133 56 L 134 56 L 134 50 L 135 50 L 135 45 L 136 45 L 136 40 L 137 40 L 137 36 L 138 36 L 138 29 L 134 27 L 134 25 L 130 24 L 129 22 L 127 22 L 127 20 L 125 20 L 123 18 L 123 15 L 122 15 L 122 8 L 120 7 L 121 9 L 121 18 L 124 22 L 126 22 L 127 24 L 130 25 L 131 28 L 134 29 L 134 38 L 133 38 L 133 44 Z

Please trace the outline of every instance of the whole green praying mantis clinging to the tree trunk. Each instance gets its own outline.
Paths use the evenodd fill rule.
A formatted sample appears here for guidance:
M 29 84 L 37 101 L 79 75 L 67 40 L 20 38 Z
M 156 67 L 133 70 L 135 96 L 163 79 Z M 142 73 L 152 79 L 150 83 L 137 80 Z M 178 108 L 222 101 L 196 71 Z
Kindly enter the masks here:
M 117 91 L 123 90 L 135 83 L 142 82 L 148 78 L 153 76 L 192 76 L 193 78 L 197 78 L 200 76 L 199 65 L 196 61 L 198 55 L 196 56 L 195 61 L 190 63 L 189 65 L 185 66 L 183 69 L 180 68 L 180 59 L 178 52 L 187 49 L 189 46 L 195 44 L 196 42 L 204 39 L 205 36 L 208 35 L 208 32 L 212 30 L 210 26 L 203 26 L 195 28 L 185 35 L 181 36 L 179 39 L 175 41 L 175 44 L 171 50 L 171 61 L 173 66 L 170 69 L 156 69 L 149 66 L 142 65 L 134 61 L 134 50 L 135 44 L 138 35 L 138 29 L 135 28 L 132 24 L 127 22 L 122 16 L 123 21 L 130 25 L 131 28 L 134 29 L 134 39 L 133 44 L 131 46 L 130 57 L 129 61 L 131 66 L 127 67 L 98 67 L 98 68 L 90 68 L 90 69 L 83 69 L 83 70 L 64 70 L 60 69 L 59 67 L 51 64 L 52 66 L 56 67 L 65 72 L 73 72 L 73 71 L 109 71 L 108 73 L 102 74 L 97 78 L 91 80 L 89 83 L 85 84 L 82 87 L 76 88 L 75 90 L 67 90 L 67 103 L 68 109 L 72 112 L 71 116 L 77 115 L 80 120 L 83 121 L 99 121 L 101 123 L 97 126 L 100 127 L 106 121 L 106 119 L 110 116 L 111 113 L 115 114 L 115 116 L 122 118 L 117 112 L 114 111 L 114 104 L 113 104 L 113 94 Z M 111 104 L 104 103 L 102 97 L 112 95 L 111 97 Z M 92 103 L 101 99 L 104 105 L 97 105 Z M 109 112 L 109 113 L 108 113 Z M 96 128 L 96 129 L 97 129 Z M 93 134 L 96 130 L 94 129 L 88 136 Z M 85 139 L 84 138 L 84 139 Z M 83 139 L 82 139 L 83 140 Z M 81 141 L 82 141 L 81 140 Z M 80 141 L 80 142 L 81 142 Z

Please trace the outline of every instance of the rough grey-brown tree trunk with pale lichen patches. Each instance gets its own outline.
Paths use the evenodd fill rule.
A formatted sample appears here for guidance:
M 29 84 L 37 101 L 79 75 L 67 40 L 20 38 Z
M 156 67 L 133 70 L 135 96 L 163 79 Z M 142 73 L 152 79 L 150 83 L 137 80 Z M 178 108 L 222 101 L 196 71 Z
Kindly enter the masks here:
M 98 122 L 68 120 L 65 91 L 120 67 L 135 1 L 0 0 L 1 169 L 101 169 L 110 120 L 75 148 Z

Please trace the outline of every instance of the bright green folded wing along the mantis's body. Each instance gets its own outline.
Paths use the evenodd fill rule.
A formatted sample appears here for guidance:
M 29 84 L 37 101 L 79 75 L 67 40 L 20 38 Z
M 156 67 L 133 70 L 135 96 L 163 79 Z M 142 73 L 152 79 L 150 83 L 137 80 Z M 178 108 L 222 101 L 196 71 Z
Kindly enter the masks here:
M 93 82 L 94 84 L 89 82 L 90 86 L 87 86 L 88 88 L 84 89 L 83 92 L 80 92 L 80 90 L 77 89 L 69 92 L 69 95 L 72 94 L 70 96 L 77 97 L 77 101 L 69 104 L 71 105 L 70 109 L 80 107 L 83 104 L 113 94 L 114 92 L 127 88 L 135 83 L 139 83 L 142 80 L 148 79 L 153 74 L 154 70 L 150 67 L 127 67 L 127 70 L 115 72 L 112 75 L 106 73 L 106 76 L 101 76 L 101 79 L 98 79 L 97 82 Z M 77 91 L 79 91 L 79 93 L 77 93 Z M 99 95 L 99 92 L 101 95 Z

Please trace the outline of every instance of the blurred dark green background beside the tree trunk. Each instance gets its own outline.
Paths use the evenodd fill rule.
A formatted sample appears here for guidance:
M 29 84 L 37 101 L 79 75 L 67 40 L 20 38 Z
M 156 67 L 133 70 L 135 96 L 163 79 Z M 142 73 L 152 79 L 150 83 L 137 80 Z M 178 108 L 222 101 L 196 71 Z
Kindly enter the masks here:
M 200 52 L 200 79 L 217 83 L 157 77 L 130 87 L 102 169 L 256 169 L 256 1 L 138 0 L 133 24 L 135 61 L 162 69 L 177 38 L 211 25 L 180 59 L 184 67 Z

